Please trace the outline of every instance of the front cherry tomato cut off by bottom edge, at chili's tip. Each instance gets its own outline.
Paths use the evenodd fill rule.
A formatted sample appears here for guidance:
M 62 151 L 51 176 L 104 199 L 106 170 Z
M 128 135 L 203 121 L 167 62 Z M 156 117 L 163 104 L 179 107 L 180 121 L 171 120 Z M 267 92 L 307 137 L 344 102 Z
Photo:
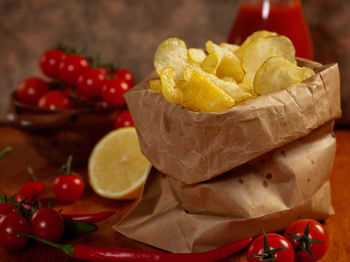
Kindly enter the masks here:
M 248 247 L 247 259 L 248 262 L 266 261 L 271 257 L 271 261 L 275 262 L 293 262 L 294 250 L 292 245 L 286 238 L 278 234 L 266 234 L 268 247 L 264 244 L 264 235 L 261 235 L 254 239 Z M 277 248 L 284 248 L 283 250 L 274 252 Z M 269 250 L 269 252 L 266 252 Z M 261 257 L 252 257 L 254 255 L 260 255 Z M 274 259 L 274 260 L 272 260 Z

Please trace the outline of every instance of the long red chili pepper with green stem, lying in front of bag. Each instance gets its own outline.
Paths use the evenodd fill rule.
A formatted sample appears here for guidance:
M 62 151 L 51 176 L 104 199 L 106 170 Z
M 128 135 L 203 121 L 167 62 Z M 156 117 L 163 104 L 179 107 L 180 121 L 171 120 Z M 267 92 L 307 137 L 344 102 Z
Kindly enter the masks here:
M 50 246 L 61 249 L 68 256 L 91 262 L 214 262 L 221 260 L 245 248 L 252 238 L 247 238 L 227 246 L 202 253 L 166 253 L 161 251 L 143 251 L 127 248 L 92 247 L 85 245 L 61 245 L 28 234 L 20 234 L 37 239 Z

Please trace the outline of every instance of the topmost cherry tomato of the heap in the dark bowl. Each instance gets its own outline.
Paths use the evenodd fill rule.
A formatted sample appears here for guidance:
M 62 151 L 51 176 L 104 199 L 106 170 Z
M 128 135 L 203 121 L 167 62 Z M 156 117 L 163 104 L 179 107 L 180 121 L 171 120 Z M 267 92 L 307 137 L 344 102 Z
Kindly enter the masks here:
M 45 51 L 40 57 L 41 71 L 50 78 L 58 79 L 59 65 L 66 57 L 67 54 L 60 50 L 50 49 Z

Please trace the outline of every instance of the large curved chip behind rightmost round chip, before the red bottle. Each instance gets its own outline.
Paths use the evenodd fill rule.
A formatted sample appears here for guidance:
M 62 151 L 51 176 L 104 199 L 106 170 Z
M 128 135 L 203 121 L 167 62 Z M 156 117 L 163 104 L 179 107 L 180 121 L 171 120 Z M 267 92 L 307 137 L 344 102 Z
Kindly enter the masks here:
M 246 73 L 256 72 L 271 56 L 282 56 L 296 64 L 292 41 L 285 36 L 258 37 L 242 53 L 242 67 Z

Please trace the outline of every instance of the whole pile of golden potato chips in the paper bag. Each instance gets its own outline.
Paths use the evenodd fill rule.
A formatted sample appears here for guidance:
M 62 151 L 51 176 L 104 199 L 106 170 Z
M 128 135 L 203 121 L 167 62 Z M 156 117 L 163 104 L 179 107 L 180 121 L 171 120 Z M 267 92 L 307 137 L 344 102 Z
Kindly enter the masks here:
M 269 31 L 253 33 L 241 46 L 208 41 L 205 50 L 187 49 L 178 38 L 162 42 L 154 55 L 160 79 L 150 80 L 151 89 L 192 111 L 219 112 L 314 74 L 296 65 L 287 37 Z

